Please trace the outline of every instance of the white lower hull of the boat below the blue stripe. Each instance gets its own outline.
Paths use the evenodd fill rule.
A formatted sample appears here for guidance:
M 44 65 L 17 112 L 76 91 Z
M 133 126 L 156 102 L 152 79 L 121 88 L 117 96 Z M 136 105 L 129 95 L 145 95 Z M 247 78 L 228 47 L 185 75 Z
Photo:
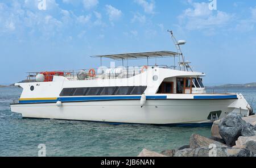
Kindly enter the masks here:
M 224 117 L 233 99 L 224 100 L 147 100 L 143 107 L 139 100 L 106 100 L 93 102 L 11 104 L 11 111 L 23 117 L 43 119 L 103 121 L 135 124 L 191 124 L 209 123 L 210 112 L 221 111 Z

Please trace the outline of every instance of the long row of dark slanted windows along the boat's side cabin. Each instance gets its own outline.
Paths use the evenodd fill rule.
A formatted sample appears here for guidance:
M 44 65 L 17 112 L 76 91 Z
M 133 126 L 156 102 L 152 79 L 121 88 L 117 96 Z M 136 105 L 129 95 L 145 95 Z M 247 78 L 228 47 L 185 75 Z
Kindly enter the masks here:
M 64 88 L 60 96 L 142 95 L 147 86 Z

